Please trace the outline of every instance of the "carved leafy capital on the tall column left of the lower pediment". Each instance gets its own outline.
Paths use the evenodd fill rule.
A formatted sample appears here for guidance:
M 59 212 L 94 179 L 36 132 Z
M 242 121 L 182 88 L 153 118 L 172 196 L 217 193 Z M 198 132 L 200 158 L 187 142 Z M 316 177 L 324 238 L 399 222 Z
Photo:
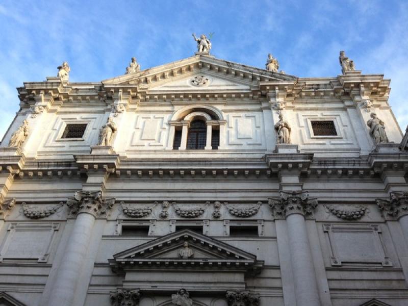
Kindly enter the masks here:
M 95 217 L 106 216 L 107 210 L 114 204 L 115 198 L 103 198 L 100 191 L 75 191 L 74 196 L 67 200 L 72 215 L 88 213 Z

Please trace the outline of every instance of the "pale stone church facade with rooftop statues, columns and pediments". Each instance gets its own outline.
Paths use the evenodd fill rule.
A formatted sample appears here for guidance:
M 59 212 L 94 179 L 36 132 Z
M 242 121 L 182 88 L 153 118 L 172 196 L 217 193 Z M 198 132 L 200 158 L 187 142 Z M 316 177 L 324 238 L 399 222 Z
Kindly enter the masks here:
M 390 80 L 187 59 L 18 88 L 0 145 L 0 304 L 408 304 Z

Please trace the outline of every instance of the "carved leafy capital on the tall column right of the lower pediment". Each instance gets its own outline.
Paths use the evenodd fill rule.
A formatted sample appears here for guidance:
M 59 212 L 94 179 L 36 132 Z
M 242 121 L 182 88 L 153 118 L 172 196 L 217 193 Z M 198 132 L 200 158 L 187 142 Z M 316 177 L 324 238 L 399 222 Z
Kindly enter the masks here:
M 318 205 L 317 198 L 309 198 L 307 191 L 281 191 L 281 198 L 268 198 L 275 218 L 286 218 L 291 214 L 309 216 Z

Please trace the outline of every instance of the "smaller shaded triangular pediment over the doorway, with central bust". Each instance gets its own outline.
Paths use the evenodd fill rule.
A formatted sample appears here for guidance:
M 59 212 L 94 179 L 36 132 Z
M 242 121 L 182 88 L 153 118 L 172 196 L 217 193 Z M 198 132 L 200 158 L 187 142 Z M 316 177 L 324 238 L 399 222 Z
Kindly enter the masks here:
M 187 245 L 185 245 L 187 243 Z M 181 250 L 190 256 L 182 256 Z M 236 269 L 259 268 L 263 262 L 254 254 L 217 239 L 183 230 L 156 238 L 144 244 L 114 254 L 110 264 L 113 267 L 148 266 L 171 267 L 174 265 L 195 265 L 196 267 L 234 267 Z

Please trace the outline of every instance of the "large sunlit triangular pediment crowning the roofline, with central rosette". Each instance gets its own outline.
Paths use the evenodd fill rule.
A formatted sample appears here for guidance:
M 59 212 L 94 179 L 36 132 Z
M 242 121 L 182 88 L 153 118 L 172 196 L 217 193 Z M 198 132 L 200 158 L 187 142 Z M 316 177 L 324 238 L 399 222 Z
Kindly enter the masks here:
M 204 75 L 209 78 L 207 84 L 194 86 L 194 77 Z M 296 81 L 289 74 L 271 72 L 265 69 L 228 62 L 212 56 L 196 55 L 181 61 L 124 74 L 102 81 L 105 85 L 136 84 L 140 89 L 159 92 L 173 90 L 214 91 L 216 89 L 249 90 L 259 86 L 260 82 Z

